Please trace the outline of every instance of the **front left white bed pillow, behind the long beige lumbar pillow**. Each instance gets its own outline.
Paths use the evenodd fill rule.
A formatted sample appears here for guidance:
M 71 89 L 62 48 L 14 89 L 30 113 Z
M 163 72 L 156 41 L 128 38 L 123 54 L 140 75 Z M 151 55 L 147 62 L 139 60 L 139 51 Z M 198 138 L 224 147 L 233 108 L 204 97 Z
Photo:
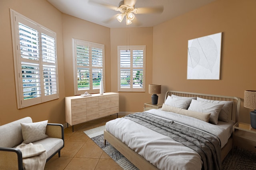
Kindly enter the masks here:
M 168 96 L 164 102 L 164 104 L 167 104 L 169 106 L 173 106 L 173 107 L 179 107 L 182 109 L 187 109 L 190 102 L 191 102 L 191 98 L 186 98 L 186 97 L 171 97 Z

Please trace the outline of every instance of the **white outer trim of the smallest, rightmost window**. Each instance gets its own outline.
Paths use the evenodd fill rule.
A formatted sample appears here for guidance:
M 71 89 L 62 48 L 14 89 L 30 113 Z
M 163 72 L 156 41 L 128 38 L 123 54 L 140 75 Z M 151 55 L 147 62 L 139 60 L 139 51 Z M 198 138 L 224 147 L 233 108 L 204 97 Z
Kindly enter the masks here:
M 143 50 L 143 86 L 142 88 L 133 88 L 133 85 L 130 84 L 130 88 L 121 87 L 121 78 L 120 78 L 120 50 Z M 131 57 L 132 58 L 132 57 Z M 132 63 L 132 59 L 131 59 Z M 132 64 L 131 64 L 132 65 Z M 134 68 L 135 69 L 135 68 Z M 133 67 L 130 66 L 130 74 L 132 74 Z M 130 76 L 131 77 L 131 76 Z M 146 45 L 131 45 L 131 46 L 118 46 L 118 92 L 145 92 L 146 91 Z

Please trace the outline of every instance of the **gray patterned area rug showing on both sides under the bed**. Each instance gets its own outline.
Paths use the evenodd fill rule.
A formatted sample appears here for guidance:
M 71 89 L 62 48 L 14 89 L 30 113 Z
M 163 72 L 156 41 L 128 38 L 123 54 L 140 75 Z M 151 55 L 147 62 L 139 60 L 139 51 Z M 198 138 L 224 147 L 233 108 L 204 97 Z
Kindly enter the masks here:
M 106 152 L 124 170 L 138 170 L 134 164 L 126 159 L 118 150 L 108 142 L 104 145 L 104 127 L 84 131 L 104 152 Z M 99 132 L 100 131 L 100 132 Z M 256 170 L 256 152 L 235 148 L 222 162 L 222 170 Z

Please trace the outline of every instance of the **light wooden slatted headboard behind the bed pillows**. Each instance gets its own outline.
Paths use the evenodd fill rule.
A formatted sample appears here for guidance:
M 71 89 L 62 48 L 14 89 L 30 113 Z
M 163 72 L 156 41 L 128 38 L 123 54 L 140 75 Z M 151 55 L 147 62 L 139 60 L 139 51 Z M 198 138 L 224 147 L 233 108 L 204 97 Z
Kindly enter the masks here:
M 232 101 L 232 112 L 230 115 L 228 115 L 228 119 L 238 122 L 238 117 L 239 117 L 239 110 L 240 110 L 240 98 L 233 97 L 233 96 L 219 96 L 219 95 L 212 95 L 212 94 L 200 94 L 200 93 L 190 93 L 190 92 L 178 92 L 178 91 L 172 91 L 169 90 L 165 94 L 165 99 L 168 96 L 171 96 L 172 94 L 176 96 L 182 96 L 182 97 L 199 97 L 199 98 L 204 98 L 208 100 L 220 100 L 220 101 Z

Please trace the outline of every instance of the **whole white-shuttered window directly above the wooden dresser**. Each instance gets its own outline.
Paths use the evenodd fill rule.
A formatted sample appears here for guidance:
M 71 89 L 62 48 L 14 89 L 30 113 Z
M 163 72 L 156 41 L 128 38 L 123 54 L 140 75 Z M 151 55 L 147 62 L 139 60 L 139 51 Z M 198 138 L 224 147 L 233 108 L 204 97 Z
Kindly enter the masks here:
M 74 92 L 75 95 L 100 92 L 104 84 L 104 45 L 89 41 L 73 40 Z M 104 88 L 105 89 L 105 88 Z

